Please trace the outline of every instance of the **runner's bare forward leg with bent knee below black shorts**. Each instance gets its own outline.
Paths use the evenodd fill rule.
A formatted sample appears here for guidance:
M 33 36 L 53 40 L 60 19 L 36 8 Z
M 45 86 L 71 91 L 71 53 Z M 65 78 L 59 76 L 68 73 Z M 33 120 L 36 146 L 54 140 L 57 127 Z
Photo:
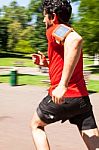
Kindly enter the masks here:
M 36 150 L 50 150 L 47 136 L 44 130 L 46 124 L 40 120 L 39 116 L 35 112 L 31 121 L 32 136 Z

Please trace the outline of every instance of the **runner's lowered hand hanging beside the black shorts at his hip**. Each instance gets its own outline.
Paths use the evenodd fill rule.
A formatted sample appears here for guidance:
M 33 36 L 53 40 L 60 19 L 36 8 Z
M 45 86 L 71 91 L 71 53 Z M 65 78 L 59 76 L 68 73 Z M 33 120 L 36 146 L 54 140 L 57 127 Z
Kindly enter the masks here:
M 67 91 L 67 87 L 64 85 L 58 85 L 52 91 L 52 101 L 56 104 L 62 104 L 64 102 L 64 94 Z

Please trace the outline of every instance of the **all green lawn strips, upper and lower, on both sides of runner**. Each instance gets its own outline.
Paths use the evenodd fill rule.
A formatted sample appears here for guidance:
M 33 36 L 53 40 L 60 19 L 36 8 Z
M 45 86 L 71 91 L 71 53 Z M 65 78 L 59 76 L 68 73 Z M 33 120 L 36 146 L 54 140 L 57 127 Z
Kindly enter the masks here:
M 0 58 L 0 66 L 14 66 L 17 62 L 22 63 L 25 67 L 35 67 L 33 64 L 31 55 L 28 58 L 16 58 L 16 57 L 4 57 Z M 93 64 L 92 58 L 84 57 L 84 65 Z M 37 67 L 37 66 L 36 66 Z M 91 71 L 91 73 L 99 75 L 99 66 L 87 66 L 85 70 Z M 48 86 L 48 84 L 42 82 L 42 80 L 47 80 L 47 76 L 33 76 L 33 75 L 18 75 L 18 85 L 30 84 L 38 86 Z M 0 82 L 10 83 L 9 75 L 0 75 Z M 99 92 L 99 81 L 90 80 L 88 83 L 89 91 Z

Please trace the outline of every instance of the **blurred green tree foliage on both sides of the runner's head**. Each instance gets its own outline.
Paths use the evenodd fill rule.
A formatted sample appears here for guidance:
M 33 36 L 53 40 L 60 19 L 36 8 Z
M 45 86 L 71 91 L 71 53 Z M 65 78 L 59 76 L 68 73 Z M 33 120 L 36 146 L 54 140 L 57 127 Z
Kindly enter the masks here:
M 98 0 L 71 1 L 80 4 L 78 18 L 74 20 L 72 16 L 72 24 L 84 39 L 84 51 L 91 55 L 99 53 Z M 46 52 L 41 3 L 40 0 L 31 0 L 28 8 L 25 8 L 12 1 L 9 6 L 0 9 L 0 49 L 12 52 Z

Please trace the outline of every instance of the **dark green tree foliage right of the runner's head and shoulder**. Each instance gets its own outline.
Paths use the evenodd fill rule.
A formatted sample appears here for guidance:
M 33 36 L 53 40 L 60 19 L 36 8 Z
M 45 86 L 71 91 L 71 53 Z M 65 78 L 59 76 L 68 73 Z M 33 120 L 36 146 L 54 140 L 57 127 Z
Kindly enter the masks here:
M 99 2 L 98 0 L 81 0 L 79 6 L 79 19 L 75 28 L 84 39 L 84 50 L 94 55 L 99 53 Z

